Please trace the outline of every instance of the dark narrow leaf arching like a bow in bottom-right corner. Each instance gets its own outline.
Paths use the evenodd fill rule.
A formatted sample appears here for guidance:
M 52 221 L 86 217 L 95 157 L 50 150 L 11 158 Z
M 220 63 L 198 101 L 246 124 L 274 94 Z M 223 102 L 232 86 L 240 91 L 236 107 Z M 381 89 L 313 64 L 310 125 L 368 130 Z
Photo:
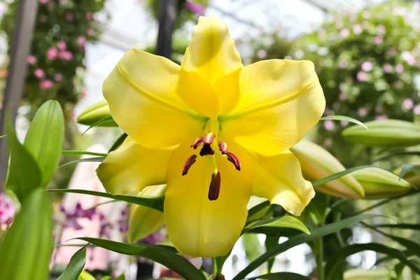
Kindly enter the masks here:
M 335 253 L 332 253 L 332 255 L 330 255 L 330 257 L 328 258 L 327 263 L 325 264 L 325 279 L 332 279 L 332 276 L 335 275 L 335 269 L 339 267 L 342 261 L 344 261 L 349 255 L 353 255 L 361 251 L 375 251 L 377 253 L 391 255 L 393 258 L 397 258 L 398 260 L 400 260 L 400 262 L 410 267 L 417 274 L 420 274 L 420 267 L 415 265 L 413 262 L 407 260 L 407 258 L 405 258 L 405 255 L 400 251 L 385 246 L 383 244 L 368 243 L 349 245 L 344 248 L 340 248 L 339 251 L 336 251 Z

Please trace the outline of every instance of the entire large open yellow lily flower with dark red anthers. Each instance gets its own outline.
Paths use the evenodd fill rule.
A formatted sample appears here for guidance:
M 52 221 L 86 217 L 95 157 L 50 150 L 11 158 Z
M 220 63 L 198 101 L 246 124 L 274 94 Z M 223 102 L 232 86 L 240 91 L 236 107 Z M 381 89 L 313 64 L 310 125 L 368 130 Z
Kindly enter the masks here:
M 225 22 L 201 17 L 181 66 L 132 49 L 103 92 L 128 137 L 99 179 L 111 193 L 166 183 L 167 230 L 183 254 L 228 253 L 252 194 L 295 215 L 314 197 L 288 151 L 325 109 L 309 61 L 244 67 Z

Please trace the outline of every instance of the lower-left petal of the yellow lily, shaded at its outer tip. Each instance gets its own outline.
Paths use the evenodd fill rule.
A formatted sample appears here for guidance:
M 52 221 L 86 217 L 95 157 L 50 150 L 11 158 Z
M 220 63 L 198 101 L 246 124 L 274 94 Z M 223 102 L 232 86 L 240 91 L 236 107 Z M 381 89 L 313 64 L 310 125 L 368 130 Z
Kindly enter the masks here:
M 167 167 L 173 153 L 173 148 L 144 148 L 127 137 L 120 148 L 109 153 L 99 165 L 97 175 L 108 193 L 137 193 L 146 186 L 166 182 Z

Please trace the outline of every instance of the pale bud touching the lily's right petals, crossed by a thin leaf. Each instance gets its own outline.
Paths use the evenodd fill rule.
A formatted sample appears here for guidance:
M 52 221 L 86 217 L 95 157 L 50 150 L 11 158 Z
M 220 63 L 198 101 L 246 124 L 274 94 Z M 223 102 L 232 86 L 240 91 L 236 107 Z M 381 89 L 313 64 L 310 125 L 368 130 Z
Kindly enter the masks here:
M 290 151 L 299 160 L 304 179 L 311 182 L 346 169 L 333 155 L 311 141 L 302 139 L 290 148 Z M 365 195 L 362 186 L 351 174 L 317 186 L 316 190 L 328 195 L 351 199 L 360 199 Z

